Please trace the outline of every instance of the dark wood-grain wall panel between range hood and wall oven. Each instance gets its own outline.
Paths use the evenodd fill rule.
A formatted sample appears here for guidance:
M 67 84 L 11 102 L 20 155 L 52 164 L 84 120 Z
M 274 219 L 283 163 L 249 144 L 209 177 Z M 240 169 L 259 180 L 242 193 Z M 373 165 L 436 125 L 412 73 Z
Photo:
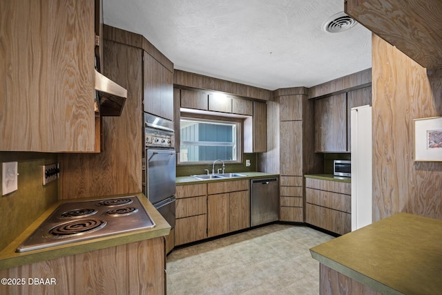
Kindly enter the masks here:
M 128 90 L 120 117 L 103 118 L 104 151 L 61 153 L 60 199 L 142 191 L 142 50 L 104 41 L 105 75 Z

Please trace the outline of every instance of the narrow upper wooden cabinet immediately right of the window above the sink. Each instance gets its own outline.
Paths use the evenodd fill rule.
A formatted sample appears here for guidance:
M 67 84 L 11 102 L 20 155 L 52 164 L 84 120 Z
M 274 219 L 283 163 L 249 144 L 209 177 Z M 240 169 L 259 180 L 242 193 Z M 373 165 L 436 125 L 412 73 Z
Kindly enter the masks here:
M 267 104 L 253 102 L 253 116 L 244 120 L 244 153 L 267 151 Z

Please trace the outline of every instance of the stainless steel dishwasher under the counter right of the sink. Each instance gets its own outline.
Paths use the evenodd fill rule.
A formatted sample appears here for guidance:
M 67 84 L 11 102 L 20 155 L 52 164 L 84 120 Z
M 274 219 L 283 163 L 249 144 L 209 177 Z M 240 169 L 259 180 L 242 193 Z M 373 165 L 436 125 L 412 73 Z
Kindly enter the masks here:
M 278 178 L 251 180 L 250 226 L 263 225 L 279 218 Z

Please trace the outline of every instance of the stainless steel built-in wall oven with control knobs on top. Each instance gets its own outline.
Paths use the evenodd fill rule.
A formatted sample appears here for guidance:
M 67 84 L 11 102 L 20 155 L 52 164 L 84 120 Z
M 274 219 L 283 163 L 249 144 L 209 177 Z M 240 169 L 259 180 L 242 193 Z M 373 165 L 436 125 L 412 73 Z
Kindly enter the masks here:
M 175 227 L 175 135 L 173 121 L 144 113 L 143 191 Z

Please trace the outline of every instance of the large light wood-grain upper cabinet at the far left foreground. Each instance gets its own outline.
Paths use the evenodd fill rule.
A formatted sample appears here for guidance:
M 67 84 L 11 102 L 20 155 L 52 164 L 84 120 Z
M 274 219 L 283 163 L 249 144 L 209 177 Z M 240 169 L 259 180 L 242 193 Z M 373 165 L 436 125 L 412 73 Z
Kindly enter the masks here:
M 94 6 L 1 1 L 0 151 L 96 151 Z

